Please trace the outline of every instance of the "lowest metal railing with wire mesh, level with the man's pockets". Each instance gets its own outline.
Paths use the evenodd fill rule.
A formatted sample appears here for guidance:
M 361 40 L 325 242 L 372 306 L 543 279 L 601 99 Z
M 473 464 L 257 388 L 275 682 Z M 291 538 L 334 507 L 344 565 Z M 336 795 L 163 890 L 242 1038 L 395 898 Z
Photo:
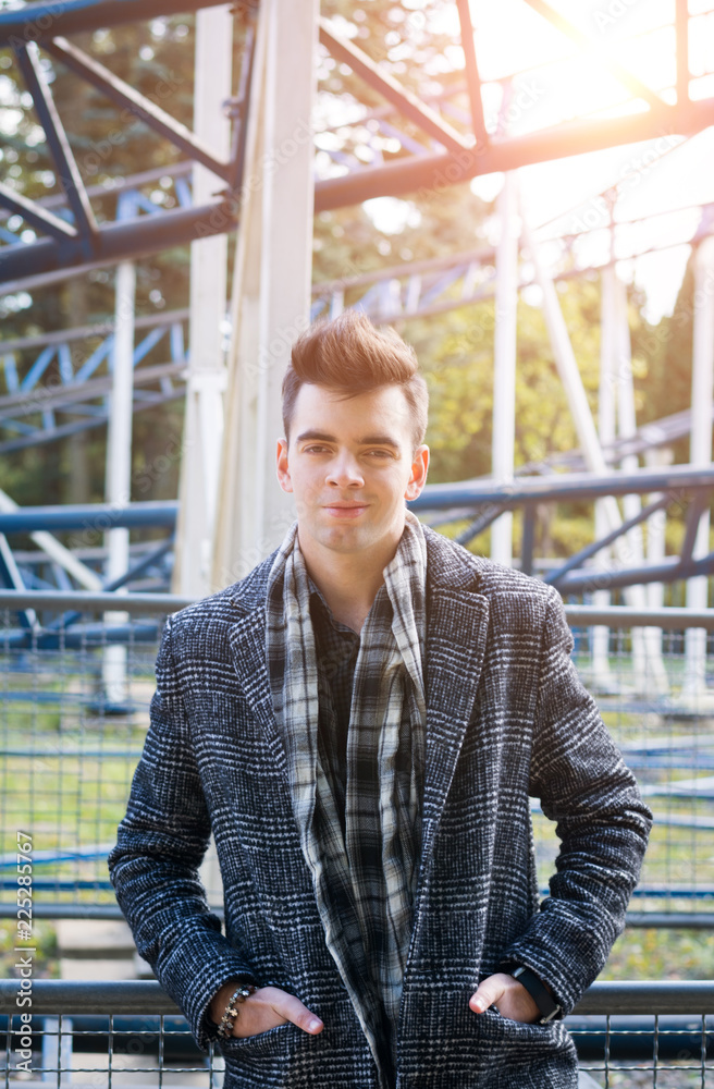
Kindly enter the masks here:
M 197 1049 L 157 982 L 34 980 L 32 1023 L 22 1024 L 17 990 L 19 980 L 0 980 L 5 1085 L 28 1073 L 58 1087 L 180 1086 L 198 1074 L 221 1082 L 222 1059 Z M 596 982 L 566 1025 L 595 1086 L 713 1089 L 713 1015 L 714 982 Z

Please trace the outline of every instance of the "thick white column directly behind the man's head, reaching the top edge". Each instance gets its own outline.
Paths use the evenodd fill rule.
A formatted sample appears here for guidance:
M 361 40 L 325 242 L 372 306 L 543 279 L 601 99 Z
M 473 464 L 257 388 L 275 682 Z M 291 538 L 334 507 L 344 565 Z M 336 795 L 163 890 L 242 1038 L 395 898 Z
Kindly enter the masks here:
M 264 558 L 294 519 L 275 480 L 275 443 L 283 433 L 281 386 L 291 345 L 310 313 L 317 27 L 317 0 L 261 3 L 234 273 L 216 586 Z

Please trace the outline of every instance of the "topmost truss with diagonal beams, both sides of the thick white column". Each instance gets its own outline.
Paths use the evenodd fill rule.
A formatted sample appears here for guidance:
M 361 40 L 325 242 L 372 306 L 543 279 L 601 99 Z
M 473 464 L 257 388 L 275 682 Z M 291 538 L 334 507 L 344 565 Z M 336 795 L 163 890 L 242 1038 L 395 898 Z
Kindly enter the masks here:
M 588 48 L 587 36 L 545 0 L 524 0 L 564 38 Z M 236 119 L 232 151 L 220 159 L 199 136 L 121 81 L 106 65 L 78 49 L 65 35 L 98 27 L 196 11 L 210 0 L 53 0 L 0 12 L 0 47 L 12 48 L 25 86 L 45 130 L 66 201 L 57 215 L 39 201 L 25 198 L 7 183 L 0 184 L 0 206 L 40 235 L 32 242 L 10 242 L 0 247 L 0 272 L 17 280 L 67 266 L 91 261 L 119 261 L 157 252 L 197 236 L 233 230 L 243 204 L 241 193 L 245 155 L 245 118 L 249 106 L 254 37 L 248 35 L 242 94 L 234 103 Z M 257 4 L 245 4 L 255 11 Z M 370 197 L 403 195 L 420 188 L 444 188 L 479 174 L 514 170 L 533 162 L 579 155 L 672 134 L 692 134 L 714 122 L 714 98 L 690 96 L 689 38 L 697 33 L 698 16 L 688 14 L 687 0 L 677 0 L 674 32 L 677 71 L 672 93 L 653 90 L 619 62 L 602 59 L 602 65 L 628 89 L 637 103 L 623 117 L 591 118 L 567 122 L 521 136 L 493 132 L 487 123 L 478 49 L 468 0 L 457 0 L 465 82 L 442 97 L 427 102 L 398 83 L 354 40 L 340 35 L 332 23 L 321 20 L 322 46 L 340 63 L 347 64 L 372 91 L 387 103 L 377 113 L 359 117 L 359 124 L 373 121 L 381 135 L 393 136 L 398 150 L 380 155 L 381 162 L 365 166 L 342 156 L 340 173 L 329 171 L 315 186 L 316 210 L 338 208 Z M 126 220 L 98 224 L 91 196 L 81 176 L 71 142 L 54 107 L 39 51 L 52 58 L 100 90 L 109 100 L 140 119 L 177 147 L 188 160 L 204 164 L 225 185 L 219 201 L 210 206 L 176 209 L 150 222 Z M 510 84 L 514 77 L 504 83 Z M 673 101 L 674 98 L 674 101 Z M 410 135 L 416 130 L 417 135 Z M 338 156 L 336 158 L 340 158 Z M 347 160 L 348 169 L 344 170 Z M 330 176 L 332 175 L 332 176 Z

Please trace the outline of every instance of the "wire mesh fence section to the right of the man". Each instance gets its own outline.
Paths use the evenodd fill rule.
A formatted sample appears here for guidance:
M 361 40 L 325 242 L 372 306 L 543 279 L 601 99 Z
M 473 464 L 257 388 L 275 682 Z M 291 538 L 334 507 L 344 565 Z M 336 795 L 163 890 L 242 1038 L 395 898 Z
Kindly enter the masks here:
M 626 615 L 626 610 L 623 613 Z M 576 623 L 577 617 L 574 608 L 569 617 L 576 644 L 574 661 L 655 818 L 633 906 L 649 911 L 711 914 L 712 635 L 702 629 L 688 633 L 684 627 L 663 631 L 657 620 L 651 621 L 649 628 L 584 627 Z M 621 619 L 620 614 L 618 623 Z M 688 646 L 691 633 L 699 639 L 693 654 Z M 649 661 L 643 654 L 648 649 L 655 652 L 660 671 L 652 665 L 655 654 L 650 653 Z M 553 825 L 538 810 L 533 819 L 539 872 L 545 880 L 552 872 L 557 841 Z

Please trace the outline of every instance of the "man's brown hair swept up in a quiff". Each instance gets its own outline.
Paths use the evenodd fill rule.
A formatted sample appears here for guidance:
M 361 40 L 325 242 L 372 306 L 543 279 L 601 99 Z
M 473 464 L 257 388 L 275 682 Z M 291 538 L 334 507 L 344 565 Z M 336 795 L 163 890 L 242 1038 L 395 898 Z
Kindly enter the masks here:
M 290 426 L 300 387 L 324 386 L 345 399 L 398 386 L 411 416 L 414 449 L 427 432 L 429 391 L 414 348 L 393 329 L 377 329 L 366 314 L 344 310 L 332 321 L 311 326 L 293 344 L 283 379 L 283 427 Z

